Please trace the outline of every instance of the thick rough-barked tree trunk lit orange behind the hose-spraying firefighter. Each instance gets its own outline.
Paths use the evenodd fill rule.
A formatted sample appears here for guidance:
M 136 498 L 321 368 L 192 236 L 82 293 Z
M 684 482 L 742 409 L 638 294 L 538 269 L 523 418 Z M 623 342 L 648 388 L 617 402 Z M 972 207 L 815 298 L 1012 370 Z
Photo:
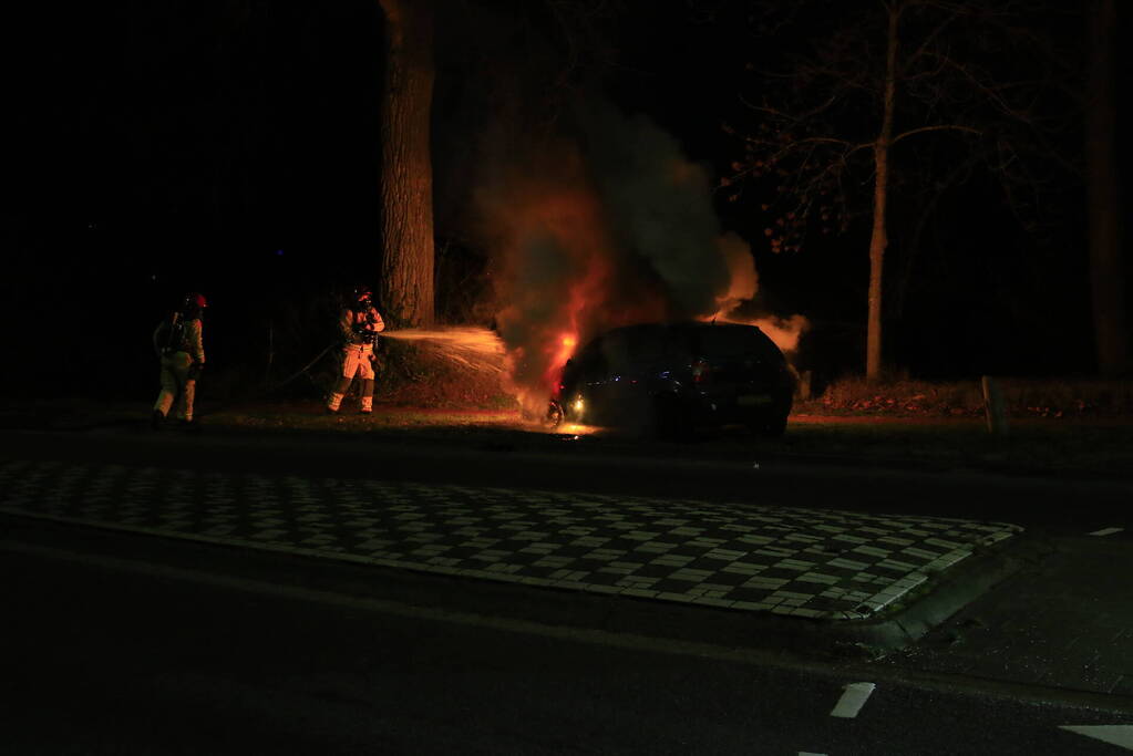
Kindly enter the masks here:
M 382 104 L 383 316 L 433 324 L 433 16 L 424 0 L 380 0 L 387 58 Z

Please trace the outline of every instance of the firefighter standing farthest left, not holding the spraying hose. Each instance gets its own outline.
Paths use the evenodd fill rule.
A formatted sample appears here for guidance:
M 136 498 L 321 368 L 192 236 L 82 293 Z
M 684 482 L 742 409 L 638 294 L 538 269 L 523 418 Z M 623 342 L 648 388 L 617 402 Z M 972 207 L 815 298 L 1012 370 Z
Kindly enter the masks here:
M 173 410 L 179 424 L 193 423 L 193 400 L 197 379 L 205 367 L 201 317 L 205 298 L 196 292 L 185 295 L 181 308 L 165 318 L 153 332 L 153 347 L 161 361 L 161 393 L 153 405 L 151 424 L 161 428 Z

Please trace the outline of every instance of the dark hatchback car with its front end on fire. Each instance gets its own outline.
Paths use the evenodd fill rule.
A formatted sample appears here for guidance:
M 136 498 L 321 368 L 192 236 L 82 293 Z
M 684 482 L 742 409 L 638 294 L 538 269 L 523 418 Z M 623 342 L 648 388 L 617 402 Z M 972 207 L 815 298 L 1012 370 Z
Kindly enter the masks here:
M 794 383 L 783 352 L 756 326 L 625 326 L 566 361 L 547 419 L 670 438 L 729 424 L 781 436 Z

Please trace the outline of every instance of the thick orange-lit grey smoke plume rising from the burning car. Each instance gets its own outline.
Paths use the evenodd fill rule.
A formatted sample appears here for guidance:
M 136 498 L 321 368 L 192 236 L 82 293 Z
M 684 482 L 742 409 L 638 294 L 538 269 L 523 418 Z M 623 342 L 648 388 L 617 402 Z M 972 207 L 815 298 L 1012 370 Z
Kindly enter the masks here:
M 608 105 L 576 120 L 573 138 L 531 152 L 511 145 L 476 197 L 496 326 L 531 412 L 597 333 L 726 317 L 758 289 L 750 248 L 722 233 L 708 175 L 673 137 Z

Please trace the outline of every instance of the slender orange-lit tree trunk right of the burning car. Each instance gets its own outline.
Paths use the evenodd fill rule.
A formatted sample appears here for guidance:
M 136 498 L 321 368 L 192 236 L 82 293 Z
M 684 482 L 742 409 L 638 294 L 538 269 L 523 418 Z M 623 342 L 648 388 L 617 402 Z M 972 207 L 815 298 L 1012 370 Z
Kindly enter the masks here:
M 893 141 L 893 108 L 896 92 L 897 20 L 900 6 L 889 9 L 888 48 L 885 65 L 885 91 L 881 98 L 881 132 L 874 144 L 874 231 L 869 239 L 869 317 L 866 326 L 866 380 L 881 377 L 881 272 L 885 248 L 889 243 L 885 211 L 889 198 L 889 146 Z

